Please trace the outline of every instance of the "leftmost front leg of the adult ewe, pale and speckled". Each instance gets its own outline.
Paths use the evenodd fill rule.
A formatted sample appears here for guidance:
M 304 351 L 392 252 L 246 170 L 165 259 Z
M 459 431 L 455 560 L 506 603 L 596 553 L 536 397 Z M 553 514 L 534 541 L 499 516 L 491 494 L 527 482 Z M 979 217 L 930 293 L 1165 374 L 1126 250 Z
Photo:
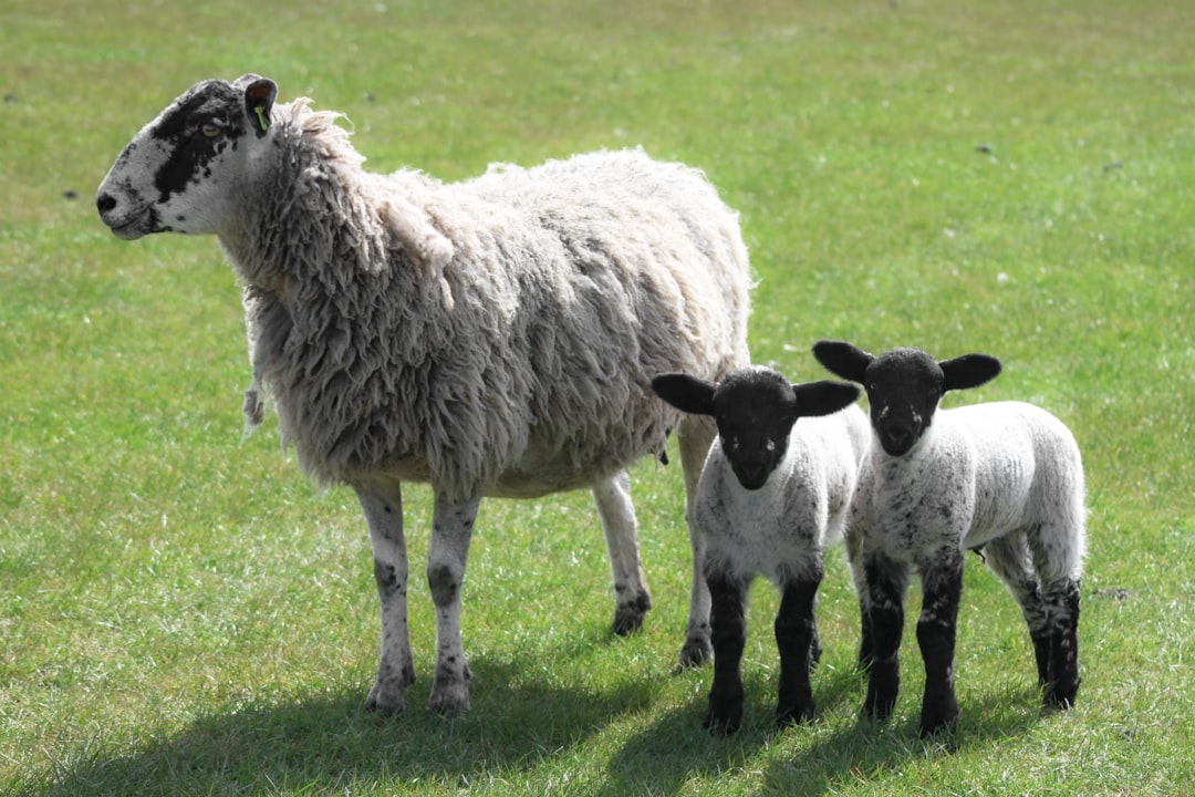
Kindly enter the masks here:
M 406 687 L 415 682 L 411 640 L 406 627 L 406 544 L 403 539 L 403 493 L 396 482 L 355 488 L 369 526 L 374 581 L 381 605 L 381 654 L 378 680 L 366 709 L 402 712 Z

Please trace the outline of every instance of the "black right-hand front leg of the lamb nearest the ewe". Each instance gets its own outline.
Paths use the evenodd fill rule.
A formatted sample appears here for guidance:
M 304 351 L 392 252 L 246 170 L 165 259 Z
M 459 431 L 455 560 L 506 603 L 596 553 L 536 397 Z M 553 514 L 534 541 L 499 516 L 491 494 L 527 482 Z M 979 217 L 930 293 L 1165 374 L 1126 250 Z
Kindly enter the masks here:
M 813 580 L 785 584 L 780 611 L 776 615 L 776 645 L 780 651 L 780 697 L 776 704 L 776 722 L 779 725 L 814 718 L 809 670 L 817 645 L 815 612 L 819 583 L 820 572 Z

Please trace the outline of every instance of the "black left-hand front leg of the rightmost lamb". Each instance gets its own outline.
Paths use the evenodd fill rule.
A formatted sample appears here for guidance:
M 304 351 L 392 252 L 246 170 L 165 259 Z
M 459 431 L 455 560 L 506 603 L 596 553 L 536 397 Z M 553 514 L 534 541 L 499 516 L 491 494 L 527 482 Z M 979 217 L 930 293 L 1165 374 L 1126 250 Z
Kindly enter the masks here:
M 864 562 L 868 582 L 868 625 L 871 626 L 871 669 L 863 713 L 888 719 L 900 692 L 900 640 L 905 630 L 908 568 L 882 554 Z

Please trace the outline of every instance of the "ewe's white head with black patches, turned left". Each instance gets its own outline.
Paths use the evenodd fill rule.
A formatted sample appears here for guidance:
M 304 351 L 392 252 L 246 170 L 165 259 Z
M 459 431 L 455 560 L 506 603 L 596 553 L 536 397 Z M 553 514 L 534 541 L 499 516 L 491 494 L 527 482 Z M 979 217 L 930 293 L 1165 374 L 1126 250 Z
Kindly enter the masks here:
M 100 219 L 125 240 L 225 229 L 276 92 L 257 75 L 192 86 L 121 152 L 96 194 Z

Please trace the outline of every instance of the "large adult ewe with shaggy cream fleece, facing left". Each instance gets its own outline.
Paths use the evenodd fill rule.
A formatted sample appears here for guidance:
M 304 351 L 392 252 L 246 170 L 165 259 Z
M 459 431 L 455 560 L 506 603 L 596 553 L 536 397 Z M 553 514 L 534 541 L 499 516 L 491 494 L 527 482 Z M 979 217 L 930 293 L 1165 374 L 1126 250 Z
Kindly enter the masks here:
M 483 496 L 590 488 L 614 631 L 637 629 L 650 595 L 626 467 L 676 428 L 695 488 L 712 424 L 658 401 L 650 376 L 748 361 L 736 214 L 700 172 L 642 152 L 455 184 L 368 173 L 338 114 L 276 96 L 251 74 L 196 84 L 129 142 L 97 207 L 127 240 L 214 233 L 243 280 L 250 424 L 264 393 L 304 470 L 364 510 L 381 602 L 367 707 L 402 711 L 415 680 L 404 480 L 434 491 L 434 711 L 468 707 L 460 589 Z M 710 655 L 709 605 L 694 564 L 682 661 Z

